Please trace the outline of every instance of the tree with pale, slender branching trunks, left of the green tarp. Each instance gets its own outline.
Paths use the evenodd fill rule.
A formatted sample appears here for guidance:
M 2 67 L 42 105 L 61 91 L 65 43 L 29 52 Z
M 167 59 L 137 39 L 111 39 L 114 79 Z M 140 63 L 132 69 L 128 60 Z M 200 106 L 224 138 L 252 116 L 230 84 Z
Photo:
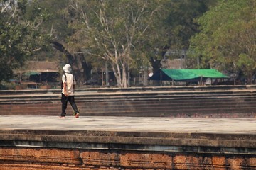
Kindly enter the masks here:
M 111 65 L 117 84 L 127 87 L 127 74 L 136 64 L 147 31 L 159 6 L 149 1 L 72 1 L 74 40 L 97 61 Z M 143 45 L 142 45 L 143 46 Z

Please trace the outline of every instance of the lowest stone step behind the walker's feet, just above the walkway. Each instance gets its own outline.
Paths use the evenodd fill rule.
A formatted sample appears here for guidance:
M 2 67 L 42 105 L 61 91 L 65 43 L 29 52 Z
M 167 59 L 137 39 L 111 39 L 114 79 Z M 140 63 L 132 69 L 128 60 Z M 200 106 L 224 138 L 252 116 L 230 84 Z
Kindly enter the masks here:
M 240 115 L 239 117 L 254 117 L 255 114 L 253 114 L 255 108 L 238 108 L 236 110 L 233 109 L 219 109 L 219 110 L 213 110 L 209 108 L 204 108 L 204 109 L 180 109 L 180 110 L 168 110 L 168 108 L 159 110 L 159 111 L 154 111 L 154 110 L 142 110 L 142 111 L 129 111 L 129 110 L 120 110 L 120 111 L 80 111 L 80 115 L 82 116 L 139 116 L 139 117 L 163 117 L 163 116 L 168 116 L 168 117 L 176 117 L 176 116 L 182 116 L 182 117 L 187 117 L 187 116 L 197 116 L 198 117 L 205 117 L 208 115 L 220 115 L 220 117 L 223 117 L 223 115 Z M 68 115 L 73 115 L 73 111 L 71 109 L 67 110 Z M 53 111 L 17 111 L 17 112 L 6 112 L 3 113 L 3 115 L 60 115 L 60 109 L 58 110 L 53 110 Z

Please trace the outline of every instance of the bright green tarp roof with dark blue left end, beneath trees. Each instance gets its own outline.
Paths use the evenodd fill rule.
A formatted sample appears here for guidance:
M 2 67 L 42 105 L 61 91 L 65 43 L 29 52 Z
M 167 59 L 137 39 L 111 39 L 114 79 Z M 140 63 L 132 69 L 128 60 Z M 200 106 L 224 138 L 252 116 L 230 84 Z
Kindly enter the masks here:
M 228 78 L 216 69 L 159 69 L 149 80 L 199 81 L 202 78 Z

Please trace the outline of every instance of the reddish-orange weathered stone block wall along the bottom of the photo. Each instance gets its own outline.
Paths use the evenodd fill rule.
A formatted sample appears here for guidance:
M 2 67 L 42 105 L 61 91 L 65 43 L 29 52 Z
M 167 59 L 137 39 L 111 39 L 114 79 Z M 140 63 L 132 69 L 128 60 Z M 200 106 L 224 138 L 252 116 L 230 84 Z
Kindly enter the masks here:
M 183 154 L 46 148 L 0 148 L 3 170 L 256 169 L 255 155 Z M 79 160 L 81 160 L 79 162 Z

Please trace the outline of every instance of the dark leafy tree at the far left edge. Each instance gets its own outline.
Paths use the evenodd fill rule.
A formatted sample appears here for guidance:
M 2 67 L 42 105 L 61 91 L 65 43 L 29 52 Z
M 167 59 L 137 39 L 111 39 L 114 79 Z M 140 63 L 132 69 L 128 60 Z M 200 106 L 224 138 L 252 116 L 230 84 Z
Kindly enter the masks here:
M 38 28 L 47 16 L 43 12 L 34 13 L 31 20 L 26 19 L 23 16 L 28 5 L 25 0 L 0 2 L 0 83 L 10 79 L 15 68 L 45 48 L 48 35 L 41 35 Z

